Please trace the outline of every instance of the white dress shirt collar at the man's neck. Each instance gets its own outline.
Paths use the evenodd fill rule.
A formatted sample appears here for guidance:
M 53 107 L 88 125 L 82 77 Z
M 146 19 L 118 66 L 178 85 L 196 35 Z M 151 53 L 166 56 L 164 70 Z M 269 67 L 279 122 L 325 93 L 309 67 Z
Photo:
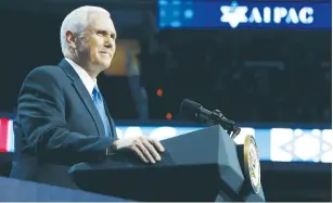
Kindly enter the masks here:
M 78 64 L 76 64 L 74 61 L 69 60 L 68 58 L 65 58 L 65 60 L 73 66 L 77 75 L 82 80 L 85 87 L 87 88 L 89 94 L 92 97 L 92 90 L 94 86 L 98 87 L 97 78 L 91 78 L 89 74 Z

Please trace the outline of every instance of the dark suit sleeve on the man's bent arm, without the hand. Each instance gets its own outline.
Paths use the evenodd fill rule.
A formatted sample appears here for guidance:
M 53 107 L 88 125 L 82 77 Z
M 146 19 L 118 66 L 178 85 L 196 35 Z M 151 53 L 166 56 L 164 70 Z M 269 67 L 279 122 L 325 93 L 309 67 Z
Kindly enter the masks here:
M 42 160 L 60 163 L 92 161 L 105 155 L 111 138 L 66 129 L 65 98 L 56 68 L 35 68 L 18 97 L 17 116 L 27 143 Z M 77 118 L 79 122 L 79 117 Z M 85 125 L 85 124 L 82 124 Z

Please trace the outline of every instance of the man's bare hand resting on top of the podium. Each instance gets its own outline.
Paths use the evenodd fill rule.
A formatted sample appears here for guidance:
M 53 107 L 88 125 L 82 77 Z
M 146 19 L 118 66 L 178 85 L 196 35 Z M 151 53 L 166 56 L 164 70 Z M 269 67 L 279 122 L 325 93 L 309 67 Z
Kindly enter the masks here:
M 133 151 L 145 163 L 155 163 L 161 161 L 159 152 L 164 152 L 164 148 L 156 139 L 148 137 L 124 138 L 114 141 L 116 150 Z

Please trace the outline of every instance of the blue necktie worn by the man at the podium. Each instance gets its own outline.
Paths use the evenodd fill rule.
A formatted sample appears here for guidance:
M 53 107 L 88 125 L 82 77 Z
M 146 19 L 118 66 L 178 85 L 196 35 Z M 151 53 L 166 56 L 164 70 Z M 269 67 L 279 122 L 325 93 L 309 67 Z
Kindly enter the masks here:
M 97 106 L 100 116 L 102 118 L 103 125 L 104 125 L 104 130 L 105 130 L 105 136 L 111 137 L 111 129 L 110 129 L 110 123 L 105 113 L 105 107 L 104 107 L 104 102 L 102 94 L 100 93 L 99 88 L 94 87 L 92 90 L 92 100 L 94 105 Z

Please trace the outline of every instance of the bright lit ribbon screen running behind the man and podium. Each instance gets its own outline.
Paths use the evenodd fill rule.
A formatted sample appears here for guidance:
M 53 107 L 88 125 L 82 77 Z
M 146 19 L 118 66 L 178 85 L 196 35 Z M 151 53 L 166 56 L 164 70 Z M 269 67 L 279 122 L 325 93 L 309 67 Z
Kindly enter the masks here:
M 198 129 L 202 127 L 119 125 L 116 130 L 119 138 L 142 135 L 164 140 Z M 242 127 L 234 141 L 243 143 L 246 135 L 255 137 L 261 161 L 332 163 L 332 129 Z M 13 122 L 1 118 L 0 152 L 14 150 Z

